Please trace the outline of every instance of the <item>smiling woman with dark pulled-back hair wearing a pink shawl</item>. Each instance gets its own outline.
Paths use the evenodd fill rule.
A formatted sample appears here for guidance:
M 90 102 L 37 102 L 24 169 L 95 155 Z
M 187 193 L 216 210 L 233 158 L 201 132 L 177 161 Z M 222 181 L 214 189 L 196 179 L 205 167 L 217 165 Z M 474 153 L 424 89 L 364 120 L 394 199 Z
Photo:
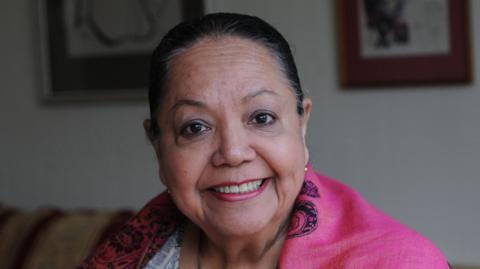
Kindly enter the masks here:
M 168 191 L 84 268 L 448 268 L 427 239 L 313 171 L 312 103 L 266 22 L 182 23 L 150 79 L 144 126 Z

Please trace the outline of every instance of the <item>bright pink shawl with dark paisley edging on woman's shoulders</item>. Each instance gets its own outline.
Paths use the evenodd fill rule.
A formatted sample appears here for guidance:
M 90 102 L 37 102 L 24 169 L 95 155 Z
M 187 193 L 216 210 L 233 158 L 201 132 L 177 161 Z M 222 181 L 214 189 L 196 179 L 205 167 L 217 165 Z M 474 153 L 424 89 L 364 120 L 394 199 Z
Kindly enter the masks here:
M 184 221 L 169 194 L 160 194 L 80 268 L 144 268 Z M 309 165 L 279 267 L 448 269 L 449 265 L 428 239 Z

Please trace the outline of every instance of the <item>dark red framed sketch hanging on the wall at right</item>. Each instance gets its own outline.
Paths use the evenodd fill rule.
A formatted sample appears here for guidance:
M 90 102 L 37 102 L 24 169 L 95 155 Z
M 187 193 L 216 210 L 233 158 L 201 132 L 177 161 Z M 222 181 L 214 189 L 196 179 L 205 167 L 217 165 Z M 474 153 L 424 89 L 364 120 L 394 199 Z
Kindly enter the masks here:
M 467 0 L 338 0 L 345 87 L 471 81 Z

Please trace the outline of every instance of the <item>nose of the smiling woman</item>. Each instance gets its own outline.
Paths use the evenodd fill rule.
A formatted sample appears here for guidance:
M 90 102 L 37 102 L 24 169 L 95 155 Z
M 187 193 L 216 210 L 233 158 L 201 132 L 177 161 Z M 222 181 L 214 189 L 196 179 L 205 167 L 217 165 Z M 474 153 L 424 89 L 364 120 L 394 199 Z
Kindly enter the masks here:
M 212 156 L 214 166 L 238 166 L 255 159 L 251 138 L 240 126 L 225 126 L 218 131 L 217 150 Z

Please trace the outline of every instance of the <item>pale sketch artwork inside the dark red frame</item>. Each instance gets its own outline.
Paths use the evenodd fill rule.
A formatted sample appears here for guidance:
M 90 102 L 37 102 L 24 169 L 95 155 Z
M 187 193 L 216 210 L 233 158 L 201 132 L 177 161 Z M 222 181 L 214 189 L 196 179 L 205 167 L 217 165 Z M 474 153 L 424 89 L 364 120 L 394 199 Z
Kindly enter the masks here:
M 448 0 L 357 0 L 364 58 L 446 54 Z

